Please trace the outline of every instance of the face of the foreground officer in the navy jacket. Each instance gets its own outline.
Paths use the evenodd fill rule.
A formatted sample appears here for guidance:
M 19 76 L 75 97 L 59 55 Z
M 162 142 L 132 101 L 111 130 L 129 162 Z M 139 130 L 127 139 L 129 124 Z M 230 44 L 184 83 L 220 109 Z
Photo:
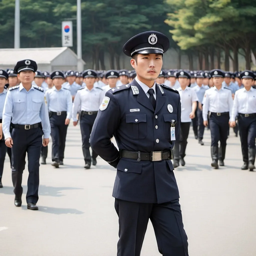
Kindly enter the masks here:
M 138 79 L 154 81 L 161 72 L 163 66 L 160 54 L 138 54 L 137 61 L 131 59 L 131 65 L 136 70 Z

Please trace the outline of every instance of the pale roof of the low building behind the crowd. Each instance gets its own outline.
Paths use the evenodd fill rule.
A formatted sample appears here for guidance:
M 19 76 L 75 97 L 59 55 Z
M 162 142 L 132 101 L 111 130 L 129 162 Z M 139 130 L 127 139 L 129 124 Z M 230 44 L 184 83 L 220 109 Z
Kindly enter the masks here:
M 55 58 L 65 51 L 77 58 L 77 55 L 68 47 L 0 49 L 0 65 L 15 66 L 17 61 L 25 59 L 34 60 L 37 64 L 51 64 Z M 83 64 L 85 64 L 84 61 Z

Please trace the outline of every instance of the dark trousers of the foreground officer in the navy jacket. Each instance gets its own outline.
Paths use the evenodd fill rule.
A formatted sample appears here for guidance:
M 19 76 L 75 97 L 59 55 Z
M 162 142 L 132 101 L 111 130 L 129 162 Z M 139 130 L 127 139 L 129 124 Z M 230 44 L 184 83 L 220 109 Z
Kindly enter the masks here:
M 150 219 L 159 252 L 164 256 L 188 256 L 179 200 L 145 204 L 115 199 L 119 217 L 118 256 L 140 256 Z

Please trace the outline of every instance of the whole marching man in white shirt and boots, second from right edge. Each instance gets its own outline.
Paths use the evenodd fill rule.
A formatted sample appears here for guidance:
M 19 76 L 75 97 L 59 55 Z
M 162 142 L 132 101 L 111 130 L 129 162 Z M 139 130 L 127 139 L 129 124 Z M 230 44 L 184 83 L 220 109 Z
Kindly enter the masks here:
M 232 113 L 233 99 L 232 91 L 222 86 L 225 74 L 219 70 L 212 70 L 210 73 L 214 87 L 205 91 L 203 104 L 204 125 L 208 125 L 207 116 L 209 112 L 209 124 L 211 131 L 211 166 L 215 169 L 224 166 L 224 159 L 227 146 L 230 117 Z M 220 141 L 220 148 L 218 142 Z

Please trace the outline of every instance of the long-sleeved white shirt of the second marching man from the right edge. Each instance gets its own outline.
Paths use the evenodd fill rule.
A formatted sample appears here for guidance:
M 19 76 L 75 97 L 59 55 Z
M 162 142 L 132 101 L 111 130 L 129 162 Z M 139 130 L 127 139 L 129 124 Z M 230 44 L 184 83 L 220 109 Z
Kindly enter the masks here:
M 215 86 L 205 91 L 203 105 L 203 119 L 207 121 L 208 111 L 213 113 L 229 112 L 232 113 L 233 99 L 232 91 L 226 87 L 218 90 Z

